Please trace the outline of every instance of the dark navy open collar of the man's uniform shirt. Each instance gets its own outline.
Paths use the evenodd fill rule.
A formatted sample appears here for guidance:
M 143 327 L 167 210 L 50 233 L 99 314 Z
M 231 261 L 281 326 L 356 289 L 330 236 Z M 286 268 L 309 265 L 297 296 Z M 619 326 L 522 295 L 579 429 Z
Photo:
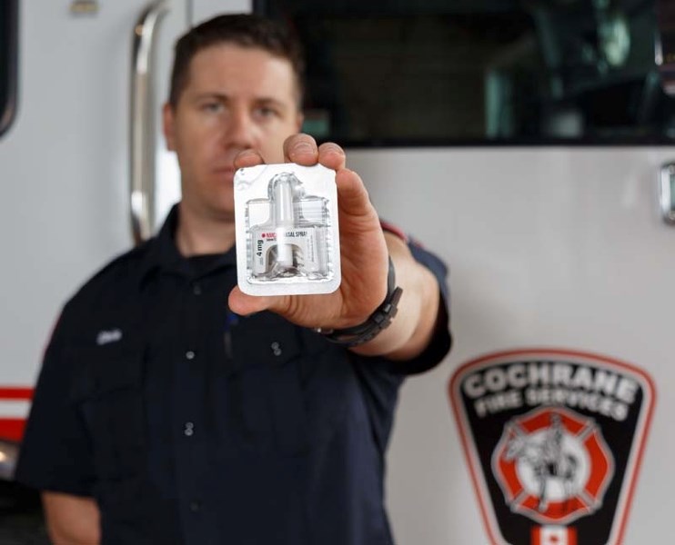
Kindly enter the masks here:
M 143 284 L 152 272 L 173 272 L 176 274 L 191 276 L 188 260 L 183 257 L 176 247 L 176 228 L 178 226 L 178 204 L 174 204 L 166 216 L 166 220 L 155 237 L 150 239 L 146 255 L 141 265 L 140 282 Z M 237 264 L 237 252 L 232 246 L 223 253 L 209 272 L 221 267 Z

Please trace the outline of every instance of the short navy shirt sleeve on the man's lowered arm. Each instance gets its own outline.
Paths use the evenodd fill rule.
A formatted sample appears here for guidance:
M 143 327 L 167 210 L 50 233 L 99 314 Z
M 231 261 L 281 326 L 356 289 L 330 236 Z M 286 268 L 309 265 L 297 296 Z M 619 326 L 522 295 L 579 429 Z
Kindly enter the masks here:
M 38 490 L 91 496 L 91 446 L 72 395 L 73 364 L 66 357 L 67 307 L 45 352 L 15 471 Z

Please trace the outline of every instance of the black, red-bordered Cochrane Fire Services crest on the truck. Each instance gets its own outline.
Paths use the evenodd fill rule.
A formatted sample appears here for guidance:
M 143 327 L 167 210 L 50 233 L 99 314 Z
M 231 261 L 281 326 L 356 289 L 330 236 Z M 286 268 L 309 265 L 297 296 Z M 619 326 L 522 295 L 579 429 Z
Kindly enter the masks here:
M 650 377 L 584 352 L 499 352 L 449 383 L 494 545 L 621 542 L 654 404 Z

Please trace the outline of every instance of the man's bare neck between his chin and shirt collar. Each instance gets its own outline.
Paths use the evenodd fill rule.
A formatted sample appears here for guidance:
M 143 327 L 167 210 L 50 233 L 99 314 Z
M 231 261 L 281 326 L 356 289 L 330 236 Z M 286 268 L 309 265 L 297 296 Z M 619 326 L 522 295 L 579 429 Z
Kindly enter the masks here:
M 234 221 L 192 213 L 185 203 L 179 206 L 176 246 L 181 255 L 224 253 L 234 245 Z

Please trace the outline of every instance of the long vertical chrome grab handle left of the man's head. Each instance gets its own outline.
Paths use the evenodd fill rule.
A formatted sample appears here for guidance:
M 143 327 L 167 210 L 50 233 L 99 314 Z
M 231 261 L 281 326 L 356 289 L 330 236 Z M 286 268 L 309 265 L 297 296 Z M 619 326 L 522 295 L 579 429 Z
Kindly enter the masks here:
M 152 236 L 155 225 L 155 104 L 153 55 L 156 25 L 168 11 L 166 0 L 148 5 L 134 26 L 131 72 L 130 205 L 136 244 Z

